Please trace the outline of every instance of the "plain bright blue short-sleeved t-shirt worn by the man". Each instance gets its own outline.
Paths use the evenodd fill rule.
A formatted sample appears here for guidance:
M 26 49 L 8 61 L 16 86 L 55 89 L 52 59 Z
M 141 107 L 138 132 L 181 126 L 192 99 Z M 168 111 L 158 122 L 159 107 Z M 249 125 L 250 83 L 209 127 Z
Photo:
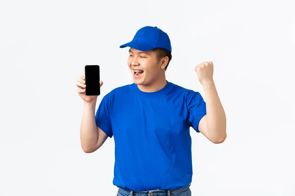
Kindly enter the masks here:
M 118 87 L 99 104 L 95 121 L 115 141 L 113 184 L 127 190 L 176 189 L 192 180 L 190 127 L 206 115 L 199 92 L 167 81 L 159 91 Z

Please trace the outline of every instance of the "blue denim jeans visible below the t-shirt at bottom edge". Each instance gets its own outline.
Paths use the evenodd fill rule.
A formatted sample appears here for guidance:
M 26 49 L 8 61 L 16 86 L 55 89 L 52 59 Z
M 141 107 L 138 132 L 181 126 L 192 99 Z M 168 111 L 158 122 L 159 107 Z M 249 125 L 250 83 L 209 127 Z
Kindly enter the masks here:
M 119 188 L 117 196 L 191 196 L 190 185 L 173 190 L 128 191 Z

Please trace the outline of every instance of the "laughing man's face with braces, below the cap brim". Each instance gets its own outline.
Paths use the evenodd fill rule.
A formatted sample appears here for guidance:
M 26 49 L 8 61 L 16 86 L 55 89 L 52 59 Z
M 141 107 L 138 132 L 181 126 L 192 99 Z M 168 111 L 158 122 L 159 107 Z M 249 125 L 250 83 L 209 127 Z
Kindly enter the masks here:
M 155 82 L 162 72 L 165 73 L 160 62 L 156 51 L 129 49 L 127 63 L 135 84 L 149 85 Z

